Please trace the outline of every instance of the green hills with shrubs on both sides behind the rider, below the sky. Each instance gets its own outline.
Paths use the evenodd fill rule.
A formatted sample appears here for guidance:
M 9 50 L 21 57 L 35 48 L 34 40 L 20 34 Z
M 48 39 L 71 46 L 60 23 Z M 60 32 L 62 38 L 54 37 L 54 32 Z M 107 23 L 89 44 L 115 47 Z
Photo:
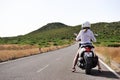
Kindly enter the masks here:
M 64 45 L 74 42 L 73 33 L 79 33 L 81 25 L 68 26 L 59 22 L 49 23 L 26 35 L 0 38 L 0 44 L 30 44 L 39 47 Z M 120 22 L 96 23 L 91 29 L 98 34 L 96 45 L 120 46 Z

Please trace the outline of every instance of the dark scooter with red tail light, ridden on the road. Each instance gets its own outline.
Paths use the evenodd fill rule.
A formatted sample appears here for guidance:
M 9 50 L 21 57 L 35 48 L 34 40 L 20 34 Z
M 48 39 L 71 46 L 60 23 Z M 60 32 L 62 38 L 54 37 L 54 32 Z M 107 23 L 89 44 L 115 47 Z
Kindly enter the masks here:
M 85 48 L 85 50 L 81 53 L 82 58 L 78 59 L 77 66 L 85 70 L 86 74 L 91 74 L 92 68 L 96 67 L 98 63 L 98 57 L 92 51 L 94 46 L 83 45 L 81 48 Z

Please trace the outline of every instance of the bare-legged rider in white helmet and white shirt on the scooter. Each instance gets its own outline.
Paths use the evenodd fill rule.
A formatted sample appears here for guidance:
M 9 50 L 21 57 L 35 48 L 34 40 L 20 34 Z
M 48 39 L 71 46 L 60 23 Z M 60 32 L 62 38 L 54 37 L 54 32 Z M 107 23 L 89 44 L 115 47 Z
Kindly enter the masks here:
M 90 30 L 90 23 L 89 22 L 85 22 L 82 24 L 82 30 L 80 30 L 79 34 L 76 37 L 76 41 L 80 41 L 80 45 L 79 48 L 81 48 L 81 46 L 84 44 L 92 44 L 93 42 L 96 42 L 96 38 L 94 37 L 93 32 Z M 80 50 L 80 51 L 79 51 Z M 72 67 L 72 72 L 76 71 L 76 64 L 78 61 L 78 58 L 80 57 L 81 53 L 84 51 L 84 48 L 78 49 L 77 54 L 74 58 L 73 61 L 73 67 Z M 93 51 L 94 52 L 94 51 Z M 101 71 L 101 67 L 98 61 L 98 70 Z

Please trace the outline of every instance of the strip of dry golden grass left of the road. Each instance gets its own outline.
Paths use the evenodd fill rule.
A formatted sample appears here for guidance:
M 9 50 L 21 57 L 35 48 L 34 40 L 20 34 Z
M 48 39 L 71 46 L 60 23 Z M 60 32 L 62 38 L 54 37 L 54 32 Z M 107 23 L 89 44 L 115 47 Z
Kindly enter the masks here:
M 68 45 L 39 48 L 31 45 L 16 45 L 16 44 L 0 45 L 0 62 L 40 54 L 43 52 L 60 49 L 66 46 Z

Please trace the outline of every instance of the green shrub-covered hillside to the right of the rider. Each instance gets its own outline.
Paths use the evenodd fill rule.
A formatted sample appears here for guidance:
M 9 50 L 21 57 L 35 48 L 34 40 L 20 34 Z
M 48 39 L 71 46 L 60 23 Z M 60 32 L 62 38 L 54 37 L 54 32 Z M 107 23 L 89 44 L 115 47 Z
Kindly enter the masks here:
M 92 24 L 92 30 L 97 33 L 97 41 L 105 46 L 120 46 L 120 22 Z

